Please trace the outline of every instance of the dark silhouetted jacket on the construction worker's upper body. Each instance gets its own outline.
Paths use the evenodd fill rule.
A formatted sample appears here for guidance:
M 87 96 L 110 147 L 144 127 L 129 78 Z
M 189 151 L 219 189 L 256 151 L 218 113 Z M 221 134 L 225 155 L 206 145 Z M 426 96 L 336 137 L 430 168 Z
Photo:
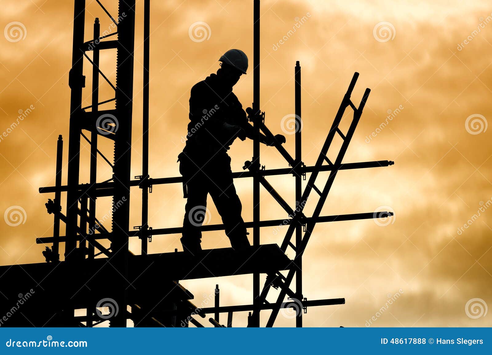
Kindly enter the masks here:
M 232 87 L 225 86 L 216 74 L 191 88 L 189 124 L 185 152 L 212 157 L 225 153 L 234 141 L 223 127 L 224 123 L 250 127 L 246 112 Z

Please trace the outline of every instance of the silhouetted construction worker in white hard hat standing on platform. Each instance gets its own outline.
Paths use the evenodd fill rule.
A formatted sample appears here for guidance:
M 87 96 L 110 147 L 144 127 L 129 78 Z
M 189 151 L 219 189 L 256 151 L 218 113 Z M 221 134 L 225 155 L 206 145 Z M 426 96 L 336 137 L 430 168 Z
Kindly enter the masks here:
M 248 60 L 243 51 L 232 49 L 219 61 L 217 74 L 211 74 L 191 88 L 186 146 L 178 156 L 188 198 L 181 243 L 184 251 L 192 254 L 201 250 L 200 227 L 206 218 L 209 193 L 231 246 L 234 249 L 250 246 L 241 217 L 241 201 L 232 179 L 231 158 L 227 154 L 236 137 L 253 139 L 253 126 L 232 92 L 241 75 L 246 74 Z M 285 143 L 284 136 L 275 138 L 279 143 Z M 260 141 L 274 145 L 262 134 Z

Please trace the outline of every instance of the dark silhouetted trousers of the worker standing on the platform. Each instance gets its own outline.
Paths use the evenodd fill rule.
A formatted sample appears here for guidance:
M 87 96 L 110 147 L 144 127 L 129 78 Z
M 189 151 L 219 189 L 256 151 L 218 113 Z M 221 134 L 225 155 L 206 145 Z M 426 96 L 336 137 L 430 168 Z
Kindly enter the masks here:
M 201 225 L 211 222 L 211 214 L 207 210 L 209 193 L 222 218 L 227 237 L 231 241 L 244 239 L 246 226 L 241 217 L 241 201 L 232 179 L 231 158 L 226 153 L 218 153 L 211 159 L 181 153 L 179 160 L 188 198 L 184 208 L 183 239 L 201 242 Z

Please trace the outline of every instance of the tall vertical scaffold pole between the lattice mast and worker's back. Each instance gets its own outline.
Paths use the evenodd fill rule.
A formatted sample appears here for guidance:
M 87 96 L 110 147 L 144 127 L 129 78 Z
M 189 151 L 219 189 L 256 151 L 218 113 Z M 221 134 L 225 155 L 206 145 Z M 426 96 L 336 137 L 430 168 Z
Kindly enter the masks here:
M 149 218 L 149 49 L 150 49 L 150 0 L 144 1 L 144 110 L 142 122 L 142 255 L 147 254 L 147 230 Z

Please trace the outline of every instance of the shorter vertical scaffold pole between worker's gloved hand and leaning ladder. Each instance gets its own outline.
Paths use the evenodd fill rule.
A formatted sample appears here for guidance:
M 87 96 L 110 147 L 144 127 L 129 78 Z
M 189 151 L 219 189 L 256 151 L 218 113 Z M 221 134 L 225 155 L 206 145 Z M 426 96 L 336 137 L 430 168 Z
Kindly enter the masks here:
M 300 211 L 301 206 L 301 197 L 302 197 L 302 172 L 301 172 L 301 128 L 302 128 L 302 120 L 301 120 L 301 66 L 299 61 L 296 62 L 296 67 L 294 69 L 295 73 L 295 118 L 296 118 L 296 156 L 295 161 L 296 165 L 294 168 L 295 177 L 296 177 L 296 213 Z M 301 246 L 303 240 L 303 230 L 300 223 L 296 225 L 296 294 L 299 301 L 303 299 L 303 261 L 302 261 L 302 251 L 297 249 Z M 296 327 L 303 326 L 303 310 L 302 308 L 299 310 L 299 315 L 296 317 Z

